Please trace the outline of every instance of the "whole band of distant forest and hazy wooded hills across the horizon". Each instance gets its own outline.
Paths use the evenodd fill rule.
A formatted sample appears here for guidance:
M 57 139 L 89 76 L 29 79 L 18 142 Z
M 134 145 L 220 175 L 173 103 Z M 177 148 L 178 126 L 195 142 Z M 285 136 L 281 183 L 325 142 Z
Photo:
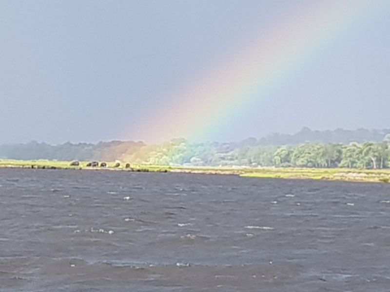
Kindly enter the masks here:
M 390 129 L 327 130 L 303 128 L 296 134 L 274 133 L 230 143 L 189 143 L 174 139 L 160 145 L 111 141 L 8 144 L 0 158 L 22 160 L 123 161 L 134 164 L 194 166 L 278 166 L 388 168 Z

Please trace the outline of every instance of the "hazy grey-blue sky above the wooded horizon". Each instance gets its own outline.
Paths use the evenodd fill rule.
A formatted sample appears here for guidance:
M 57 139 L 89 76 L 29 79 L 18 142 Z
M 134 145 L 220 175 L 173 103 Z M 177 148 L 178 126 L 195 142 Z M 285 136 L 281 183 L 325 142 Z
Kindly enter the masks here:
M 358 0 L 340 1 L 352 7 Z M 284 77 L 251 93 L 250 102 L 243 89 L 226 97 L 235 101 L 229 109 L 202 108 L 214 92 L 204 84 L 218 88 L 225 68 L 234 76 L 234 60 L 245 59 L 243 52 L 254 43 L 264 39 L 278 51 L 282 42 L 273 48 L 275 28 L 288 40 L 290 19 L 299 22 L 314 2 L 0 0 L 0 144 L 152 143 L 177 135 L 238 141 L 303 127 L 390 128 L 386 0 L 363 0 L 357 16 L 341 21 L 334 33 L 313 38 L 305 57 L 291 70 L 277 71 Z M 315 7 L 317 12 L 335 3 L 318 2 L 325 6 Z M 307 25 L 297 27 L 304 31 Z M 252 59 L 245 60 L 250 66 Z M 258 78 L 252 83 L 261 84 Z M 234 88 L 245 85 L 237 81 Z M 191 98 L 192 108 L 180 106 L 185 98 Z M 188 127 L 175 131 L 183 123 Z M 195 138 L 196 127 L 202 134 Z

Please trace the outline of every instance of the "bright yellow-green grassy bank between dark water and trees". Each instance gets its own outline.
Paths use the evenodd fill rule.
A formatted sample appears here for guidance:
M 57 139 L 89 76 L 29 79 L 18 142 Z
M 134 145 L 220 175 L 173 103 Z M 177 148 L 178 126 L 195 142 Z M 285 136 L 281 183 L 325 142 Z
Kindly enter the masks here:
M 107 163 L 107 167 L 87 167 L 88 162 L 80 162 L 78 166 L 70 166 L 69 161 L 48 160 L 0 160 L 0 167 L 21 167 L 38 169 L 107 169 L 142 172 L 184 172 L 202 174 L 229 174 L 251 178 L 312 179 L 351 182 L 390 182 L 390 169 L 367 170 L 348 168 L 274 168 L 274 167 L 185 167 L 125 164 L 115 167 L 115 162 Z

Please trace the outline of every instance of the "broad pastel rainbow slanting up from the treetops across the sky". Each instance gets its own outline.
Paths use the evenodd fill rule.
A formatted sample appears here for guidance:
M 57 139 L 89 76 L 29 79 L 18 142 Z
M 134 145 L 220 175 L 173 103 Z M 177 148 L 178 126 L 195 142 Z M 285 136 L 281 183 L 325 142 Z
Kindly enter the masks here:
M 200 141 L 226 130 L 224 125 L 233 112 L 243 116 L 317 51 L 337 41 L 353 25 L 363 23 L 370 11 L 385 1 L 312 1 L 234 57 L 202 73 L 192 86 L 173 94 L 154 116 L 141 120 L 130 136 L 146 142 L 178 137 Z

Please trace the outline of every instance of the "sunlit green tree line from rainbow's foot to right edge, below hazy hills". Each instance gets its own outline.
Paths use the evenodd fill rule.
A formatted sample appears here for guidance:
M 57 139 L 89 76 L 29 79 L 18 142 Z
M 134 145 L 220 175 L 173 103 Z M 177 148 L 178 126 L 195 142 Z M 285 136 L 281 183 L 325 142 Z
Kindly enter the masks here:
M 245 146 L 188 144 L 171 141 L 149 153 L 146 163 L 197 166 L 275 166 L 381 169 L 390 165 L 388 142 L 305 143 L 297 146 Z

